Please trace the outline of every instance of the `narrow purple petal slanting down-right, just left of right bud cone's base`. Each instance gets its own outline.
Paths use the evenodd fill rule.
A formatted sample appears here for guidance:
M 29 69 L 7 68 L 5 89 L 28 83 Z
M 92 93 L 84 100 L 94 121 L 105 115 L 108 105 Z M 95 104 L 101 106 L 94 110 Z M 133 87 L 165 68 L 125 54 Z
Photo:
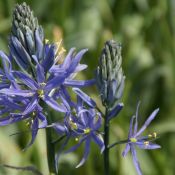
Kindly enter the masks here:
M 72 90 L 90 107 L 95 107 L 96 103 L 92 98 L 90 98 L 87 94 L 81 91 L 79 88 L 72 88 Z

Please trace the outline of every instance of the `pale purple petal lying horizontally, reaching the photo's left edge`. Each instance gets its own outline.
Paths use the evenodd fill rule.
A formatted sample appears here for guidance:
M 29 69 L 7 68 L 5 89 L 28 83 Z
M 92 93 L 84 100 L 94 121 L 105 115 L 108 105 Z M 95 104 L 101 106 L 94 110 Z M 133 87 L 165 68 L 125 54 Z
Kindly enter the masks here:
M 10 95 L 10 96 L 22 96 L 22 97 L 31 97 L 35 93 L 30 90 L 18 90 L 18 89 L 1 89 L 0 93 Z

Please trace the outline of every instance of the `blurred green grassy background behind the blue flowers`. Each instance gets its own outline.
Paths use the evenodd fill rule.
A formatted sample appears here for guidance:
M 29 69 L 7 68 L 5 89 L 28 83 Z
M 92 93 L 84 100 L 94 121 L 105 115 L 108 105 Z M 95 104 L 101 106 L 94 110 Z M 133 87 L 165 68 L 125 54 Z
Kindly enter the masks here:
M 13 8 L 20 0 L 0 0 L 0 49 L 8 52 L 7 42 Z M 175 174 L 175 1 L 174 0 L 30 0 L 39 23 L 50 41 L 63 38 L 68 51 L 88 48 L 82 62 L 88 69 L 81 76 L 92 78 L 103 44 L 114 39 L 123 46 L 126 86 L 120 116 L 111 123 L 111 142 L 127 137 L 130 117 L 141 100 L 140 123 L 157 107 L 160 112 L 147 133 L 160 134 L 160 150 L 138 150 L 144 175 Z M 86 92 L 100 102 L 95 87 Z M 22 124 L 0 128 L 0 164 L 34 164 L 48 175 L 45 133 L 39 131 L 36 142 L 23 152 L 29 140 L 26 134 L 9 136 L 25 130 Z M 135 175 L 131 156 L 121 156 L 124 146 L 110 152 L 110 175 Z M 101 175 L 103 159 L 96 145 L 84 166 L 75 169 L 83 149 L 60 160 L 60 175 Z M 0 167 L 0 175 L 32 174 Z

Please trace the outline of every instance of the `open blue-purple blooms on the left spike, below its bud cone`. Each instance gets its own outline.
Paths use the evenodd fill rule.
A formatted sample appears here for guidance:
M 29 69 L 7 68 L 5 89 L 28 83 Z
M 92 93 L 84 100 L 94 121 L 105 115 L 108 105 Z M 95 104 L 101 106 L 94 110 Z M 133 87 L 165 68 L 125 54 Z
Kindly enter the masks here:
M 22 47 L 19 42 L 16 44 L 19 44 L 18 47 Z M 94 80 L 74 80 L 76 73 L 87 67 L 84 64 L 79 64 L 87 51 L 86 49 L 76 55 L 74 54 L 75 49 L 71 49 L 63 63 L 57 64 L 56 45 L 44 45 L 41 42 L 37 44 L 39 45 L 38 48 L 43 51 L 43 58 L 40 59 L 38 52 L 32 56 L 35 61 L 35 66 L 32 67 L 32 75 L 23 70 L 12 70 L 11 60 L 3 52 L 0 52 L 4 66 L 4 71 L 0 72 L 3 78 L 0 94 L 2 99 L 6 97 L 6 103 L 2 103 L 1 106 L 1 113 L 5 115 L 1 118 L 0 125 L 30 118 L 32 141 L 29 145 L 33 143 L 40 128 L 39 120 L 44 122 L 44 127 L 47 126 L 44 111 L 43 109 L 39 110 L 41 101 L 58 112 L 68 113 L 70 109 L 67 108 L 66 104 L 69 103 L 69 100 L 61 96 L 60 91 L 64 89 L 64 92 L 67 92 L 67 86 L 84 87 L 94 83 Z M 57 101 L 58 99 L 60 104 Z M 14 103 L 13 109 L 8 107 L 8 104 L 11 103 Z

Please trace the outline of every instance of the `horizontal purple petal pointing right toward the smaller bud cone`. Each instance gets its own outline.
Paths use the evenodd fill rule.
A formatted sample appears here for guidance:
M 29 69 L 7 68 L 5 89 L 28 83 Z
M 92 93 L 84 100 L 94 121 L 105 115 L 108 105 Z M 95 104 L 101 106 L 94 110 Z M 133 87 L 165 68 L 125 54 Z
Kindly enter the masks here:
M 73 87 L 86 87 L 86 86 L 92 86 L 95 84 L 95 80 L 69 80 L 66 79 L 64 84 L 66 86 L 73 86 Z

